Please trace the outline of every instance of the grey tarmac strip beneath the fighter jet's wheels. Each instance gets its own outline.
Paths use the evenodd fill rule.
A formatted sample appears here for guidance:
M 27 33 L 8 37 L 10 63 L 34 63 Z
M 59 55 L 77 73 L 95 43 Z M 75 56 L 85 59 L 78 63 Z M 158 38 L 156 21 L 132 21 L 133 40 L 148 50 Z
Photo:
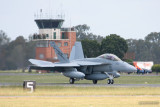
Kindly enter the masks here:
M 0 86 L 23 86 L 23 84 L 22 83 L 0 83 Z M 36 86 L 63 86 L 63 87 L 160 87 L 160 84 L 37 83 Z

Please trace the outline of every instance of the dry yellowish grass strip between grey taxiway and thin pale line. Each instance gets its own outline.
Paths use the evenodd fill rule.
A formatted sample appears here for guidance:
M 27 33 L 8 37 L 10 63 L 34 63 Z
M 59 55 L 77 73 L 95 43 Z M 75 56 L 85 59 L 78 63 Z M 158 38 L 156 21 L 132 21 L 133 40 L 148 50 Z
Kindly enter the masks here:
M 160 87 L 65 87 L 37 86 L 28 93 L 22 86 L 0 87 L 0 96 L 95 96 L 95 95 L 160 95 Z

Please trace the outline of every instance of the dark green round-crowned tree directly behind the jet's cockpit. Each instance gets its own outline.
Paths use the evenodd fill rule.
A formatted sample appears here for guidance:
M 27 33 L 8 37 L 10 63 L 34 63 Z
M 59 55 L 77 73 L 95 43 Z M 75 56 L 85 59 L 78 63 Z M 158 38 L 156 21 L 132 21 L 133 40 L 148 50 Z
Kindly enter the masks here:
M 102 40 L 101 43 L 102 54 L 112 53 L 122 59 L 127 50 L 128 50 L 128 45 L 125 39 L 116 34 L 110 34 L 106 36 L 105 39 Z

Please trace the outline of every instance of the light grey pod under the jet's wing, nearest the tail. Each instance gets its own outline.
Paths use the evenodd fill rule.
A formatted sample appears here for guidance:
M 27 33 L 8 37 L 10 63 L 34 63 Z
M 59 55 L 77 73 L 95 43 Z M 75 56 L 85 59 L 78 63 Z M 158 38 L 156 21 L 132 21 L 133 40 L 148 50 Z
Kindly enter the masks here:
M 70 78 L 82 79 L 85 74 L 82 72 L 78 72 L 76 68 L 73 68 L 71 71 L 63 72 L 63 75 Z

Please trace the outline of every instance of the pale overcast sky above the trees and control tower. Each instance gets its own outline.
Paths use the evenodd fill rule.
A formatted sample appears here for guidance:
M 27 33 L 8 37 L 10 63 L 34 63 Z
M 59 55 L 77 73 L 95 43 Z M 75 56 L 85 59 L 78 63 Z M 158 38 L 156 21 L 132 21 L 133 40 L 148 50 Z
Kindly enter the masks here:
M 0 30 L 11 39 L 38 32 L 34 15 L 65 14 L 64 27 L 87 24 L 90 32 L 128 39 L 160 32 L 160 0 L 0 0 Z

